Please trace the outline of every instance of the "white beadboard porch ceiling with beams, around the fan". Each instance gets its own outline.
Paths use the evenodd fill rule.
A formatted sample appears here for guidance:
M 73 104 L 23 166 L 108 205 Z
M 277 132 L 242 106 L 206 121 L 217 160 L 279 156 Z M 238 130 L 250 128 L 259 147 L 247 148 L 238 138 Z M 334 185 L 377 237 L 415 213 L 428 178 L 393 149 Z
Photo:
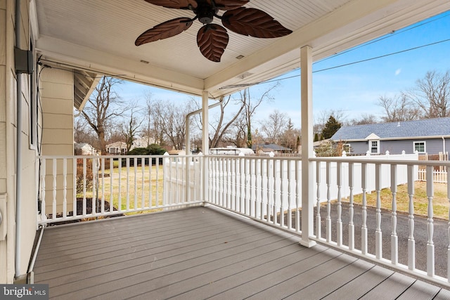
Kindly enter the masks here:
M 450 10 L 448 0 L 252 0 L 245 7 L 269 13 L 293 33 L 257 39 L 229 31 L 221 62 L 213 63 L 198 49 L 198 21 L 175 37 L 134 45 L 145 30 L 192 18 L 191 11 L 144 0 L 30 0 L 30 5 L 42 60 L 183 93 L 208 91 L 210 98 L 239 89 L 226 86 L 265 81 L 298 68 L 302 46 L 311 46 L 319 60 Z

